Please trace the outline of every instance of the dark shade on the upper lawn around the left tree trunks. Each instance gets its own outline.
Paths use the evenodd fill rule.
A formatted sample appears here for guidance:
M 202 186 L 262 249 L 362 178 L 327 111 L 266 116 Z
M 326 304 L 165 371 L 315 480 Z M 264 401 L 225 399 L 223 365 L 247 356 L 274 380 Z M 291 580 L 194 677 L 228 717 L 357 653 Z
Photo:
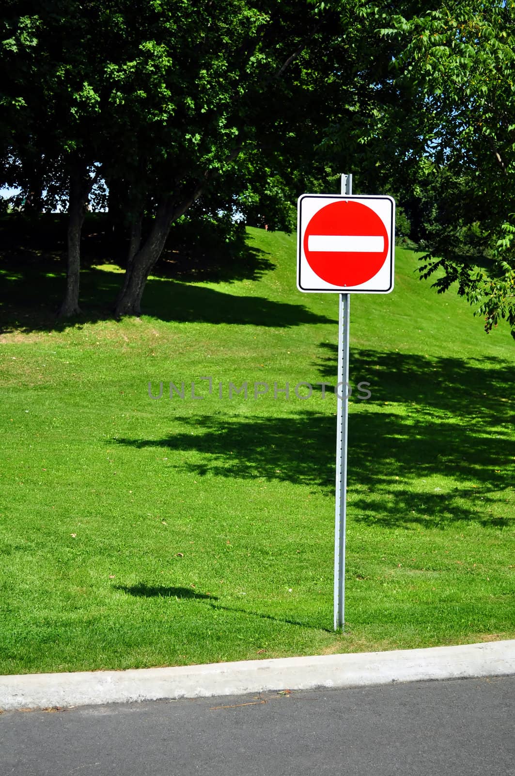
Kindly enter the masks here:
M 13 218 L 14 227 L 9 228 L 5 219 L 0 219 L 4 240 L 0 248 L 0 332 L 64 331 L 112 320 L 123 271 L 116 266 L 116 258 L 105 251 L 104 236 L 99 232 L 102 219 L 90 219 L 89 227 L 85 224 L 80 297 L 83 313 L 57 320 L 66 285 L 65 224 L 62 219 L 44 216 L 33 230 L 32 222 L 22 216 Z M 112 267 L 95 266 L 101 262 L 111 263 Z M 167 321 L 271 327 L 334 323 L 334 319 L 311 313 L 300 303 L 273 302 L 262 296 L 238 296 L 192 285 L 208 280 L 256 281 L 274 268 L 270 255 L 251 246 L 243 234 L 231 251 L 220 249 L 191 260 L 167 248 L 147 281 L 142 314 Z

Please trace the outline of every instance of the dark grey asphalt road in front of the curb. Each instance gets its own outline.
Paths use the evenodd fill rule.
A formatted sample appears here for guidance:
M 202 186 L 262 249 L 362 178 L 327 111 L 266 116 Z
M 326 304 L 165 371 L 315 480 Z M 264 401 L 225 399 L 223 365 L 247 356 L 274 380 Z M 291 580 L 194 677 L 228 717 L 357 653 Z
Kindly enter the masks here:
M 2 776 L 515 776 L 515 677 L 0 715 Z

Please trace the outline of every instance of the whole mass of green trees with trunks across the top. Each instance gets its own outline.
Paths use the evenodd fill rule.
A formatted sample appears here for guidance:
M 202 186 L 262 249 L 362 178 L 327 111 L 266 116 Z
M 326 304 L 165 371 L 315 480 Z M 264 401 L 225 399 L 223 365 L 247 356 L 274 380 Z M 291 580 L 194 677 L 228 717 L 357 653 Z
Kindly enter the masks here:
M 3 182 L 67 203 L 78 312 L 95 182 L 130 232 L 116 313 L 137 314 L 185 213 L 292 226 L 302 191 L 359 172 L 391 192 L 438 290 L 515 330 L 513 0 L 6 0 Z M 143 220 L 146 217 L 146 221 Z M 150 217 L 150 220 L 149 220 Z M 147 227 L 144 227 L 147 223 Z

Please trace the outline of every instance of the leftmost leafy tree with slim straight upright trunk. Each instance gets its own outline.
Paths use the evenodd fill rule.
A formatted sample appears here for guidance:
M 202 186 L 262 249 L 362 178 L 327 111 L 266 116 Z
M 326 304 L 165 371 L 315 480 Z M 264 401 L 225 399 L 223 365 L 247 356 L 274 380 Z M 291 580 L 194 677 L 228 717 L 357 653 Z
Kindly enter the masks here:
M 7 0 L 2 9 L 2 178 L 21 186 L 35 210 L 41 209 L 43 189 L 50 206 L 67 203 L 63 317 L 80 312 L 81 227 L 100 175 L 95 162 L 102 137 L 94 88 L 102 51 L 94 31 L 99 5 L 88 3 L 88 26 L 74 12 L 76 5 Z

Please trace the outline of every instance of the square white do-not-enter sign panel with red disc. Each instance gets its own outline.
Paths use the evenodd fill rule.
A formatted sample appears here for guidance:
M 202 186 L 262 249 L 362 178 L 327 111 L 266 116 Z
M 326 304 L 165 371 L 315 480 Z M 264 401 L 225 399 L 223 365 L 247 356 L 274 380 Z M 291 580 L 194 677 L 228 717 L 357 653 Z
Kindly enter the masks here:
M 300 291 L 392 291 L 392 197 L 304 194 L 298 215 Z

